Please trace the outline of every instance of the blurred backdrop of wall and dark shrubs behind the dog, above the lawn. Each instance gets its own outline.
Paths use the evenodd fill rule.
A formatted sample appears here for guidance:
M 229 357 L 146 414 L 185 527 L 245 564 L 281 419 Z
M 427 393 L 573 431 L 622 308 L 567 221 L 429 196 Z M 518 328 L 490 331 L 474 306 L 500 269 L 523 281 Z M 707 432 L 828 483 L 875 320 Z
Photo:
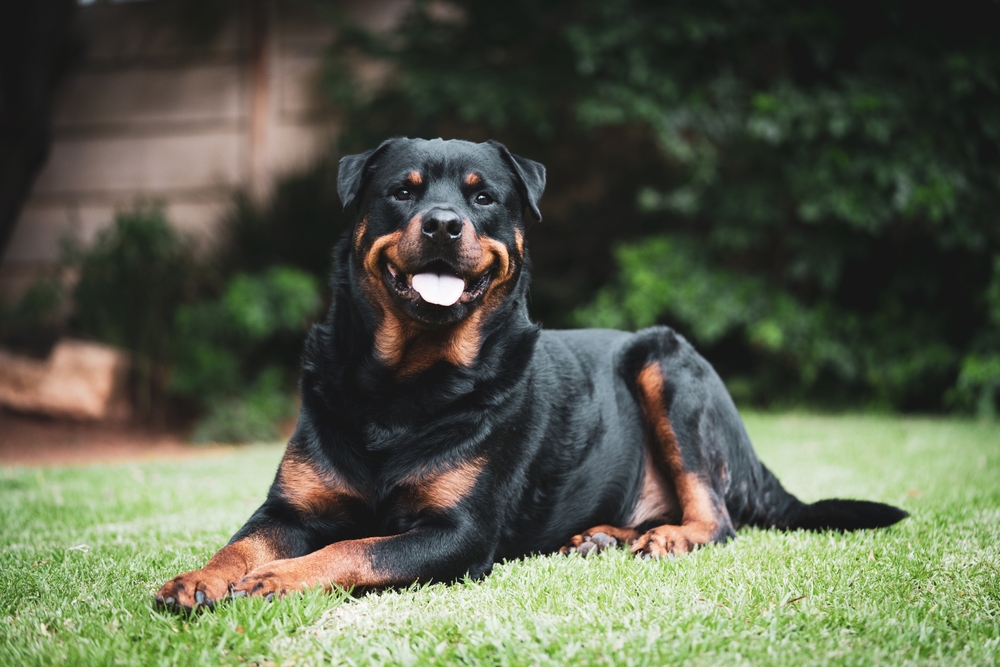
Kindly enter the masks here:
M 993 0 L 6 3 L 0 404 L 287 432 L 337 161 L 408 135 L 548 167 L 547 327 L 669 324 L 743 406 L 992 419 L 998 25 Z

